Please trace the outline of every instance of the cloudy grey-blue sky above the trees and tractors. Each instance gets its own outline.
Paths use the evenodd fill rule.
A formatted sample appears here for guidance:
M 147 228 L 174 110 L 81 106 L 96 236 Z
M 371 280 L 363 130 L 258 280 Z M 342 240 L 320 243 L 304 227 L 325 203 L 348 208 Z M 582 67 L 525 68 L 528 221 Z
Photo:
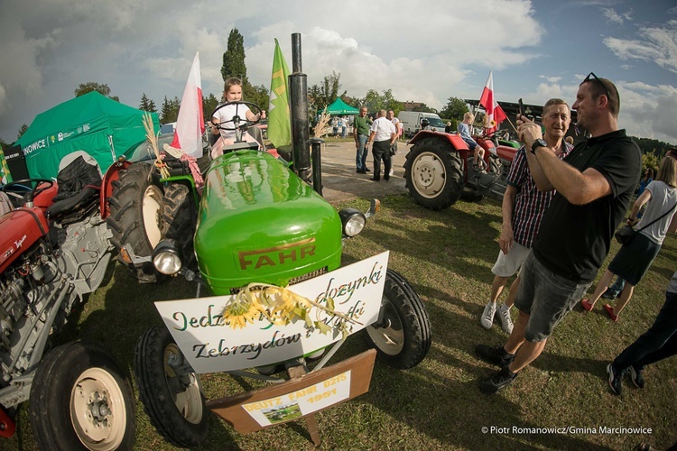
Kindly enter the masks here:
M 246 5 L 246 7 L 244 7 Z M 617 83 L 628 133 L 677 143 L 677 2 L 652 0 L 0 0 L 0 138 L 105 83 L 126 105 L 181 97 L 199 51 L 202 89 L 220 97 L 228 32 L 247 75 L 270 86 L 274 38 L 292 64 L 301 33 L 309 86 L 340 73 L 351 97 L 392 89 L 441 108 L 478 98 L 573 102 L 590 71 Z

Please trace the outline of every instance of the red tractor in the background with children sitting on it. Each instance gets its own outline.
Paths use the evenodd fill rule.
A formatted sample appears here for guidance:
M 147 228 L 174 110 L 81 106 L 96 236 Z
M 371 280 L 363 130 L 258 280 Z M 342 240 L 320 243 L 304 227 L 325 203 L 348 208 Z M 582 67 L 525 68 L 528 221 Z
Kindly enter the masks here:
M 476 136 L 475 140 L 485 149 L 487 170 L 473 168 L 473 154 L 458 134 L 429 130 L 416 133 L 404 162 L 406 186 L 416 203 L 441 210 L 459 198 L 503 199 L 505 180 L 517 149 L 499 140 L 497 133 Z

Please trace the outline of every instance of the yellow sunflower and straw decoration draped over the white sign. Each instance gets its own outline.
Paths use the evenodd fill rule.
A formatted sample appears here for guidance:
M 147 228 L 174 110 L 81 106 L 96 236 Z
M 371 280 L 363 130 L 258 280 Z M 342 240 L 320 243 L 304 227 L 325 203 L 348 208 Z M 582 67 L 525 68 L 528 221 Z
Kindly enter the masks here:
M 330 318 L 329 323 L 332 323 L 333 327 L 320 319 L 320 312 L 324 312 Z M 221 316 L 234 329 L 246 327 L 247 323 L 254 323 L 262 316 L 277 326 L 302 320 L 307 329 L 318 329 L 322 334 L 336 330 L 343 334 L 343 339 L 349 334 L 348 323 L 361 325 L 356 319 L 336 311 L 334 299 L 328 298 L 327 305 L 323 305 L 283 287 L 267 283 L 247 285 L 228 301 Z

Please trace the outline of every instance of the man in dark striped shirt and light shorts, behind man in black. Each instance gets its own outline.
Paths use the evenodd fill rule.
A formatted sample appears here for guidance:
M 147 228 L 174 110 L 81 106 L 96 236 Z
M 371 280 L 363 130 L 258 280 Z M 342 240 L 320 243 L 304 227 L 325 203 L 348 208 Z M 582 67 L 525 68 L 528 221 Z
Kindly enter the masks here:
M 572 149 L 569 143 L 564 142 L 564 135 L 569 129 L 571 112 L 569 106 L 559 98 L 548 100 L 543 106 L 543 138 L 555 149 L 560 157 L 564 158 Z M 503 196 L 503 226 L 498 244 L 496 264 L 491 269 L 495 274 L 491 284 L 489 303 L 482 312 L 479 323 L 490 329 L 494 323 L 496 313 L 501 321 L 501 327 L 506 334 L 513 331 L 513 320 L 510 317 L 510 308 L 515 302 L 519 275 L 510 286 L 507 299 L 502 306 L 496 308 L 496 299 L 505 287 L 505 282 L 519 271 L 526 256 L 531 252 L 533 238 L 538 233 L 541 219 L 554 191 L 539 191 L 533 181 L 532 174 L 526 162 L 524 145 L 515 153 L 515 160 L 510 167 L 507 179 L 507 189 Z

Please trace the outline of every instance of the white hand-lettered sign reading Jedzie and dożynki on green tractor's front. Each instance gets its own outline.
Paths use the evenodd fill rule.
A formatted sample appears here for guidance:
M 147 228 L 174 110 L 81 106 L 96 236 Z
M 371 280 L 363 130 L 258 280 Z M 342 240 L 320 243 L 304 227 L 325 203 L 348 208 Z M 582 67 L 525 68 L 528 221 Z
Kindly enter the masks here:
M 385 285 L 389 253 L 380 253 L 309 281 L 292 285 L 288 290 L 325 303 L 334 300 L 334 309 L 357 323 L 348 323 L 350 333 L 372 324 L 378 318 Z M 155 302 L 162 320 L 181 352 L 197 373 L 217 373 L 276 364 L 309 354 L 341 338 L 336 331 L 321 334 L 309 330 L 302 320 L 276 326 L 263 316 L 254 324 L 233 329 L 221 317 L 231 296 Z M 318 308 L 311 308 L 313 321 L 332 327 L 331 318 Z

